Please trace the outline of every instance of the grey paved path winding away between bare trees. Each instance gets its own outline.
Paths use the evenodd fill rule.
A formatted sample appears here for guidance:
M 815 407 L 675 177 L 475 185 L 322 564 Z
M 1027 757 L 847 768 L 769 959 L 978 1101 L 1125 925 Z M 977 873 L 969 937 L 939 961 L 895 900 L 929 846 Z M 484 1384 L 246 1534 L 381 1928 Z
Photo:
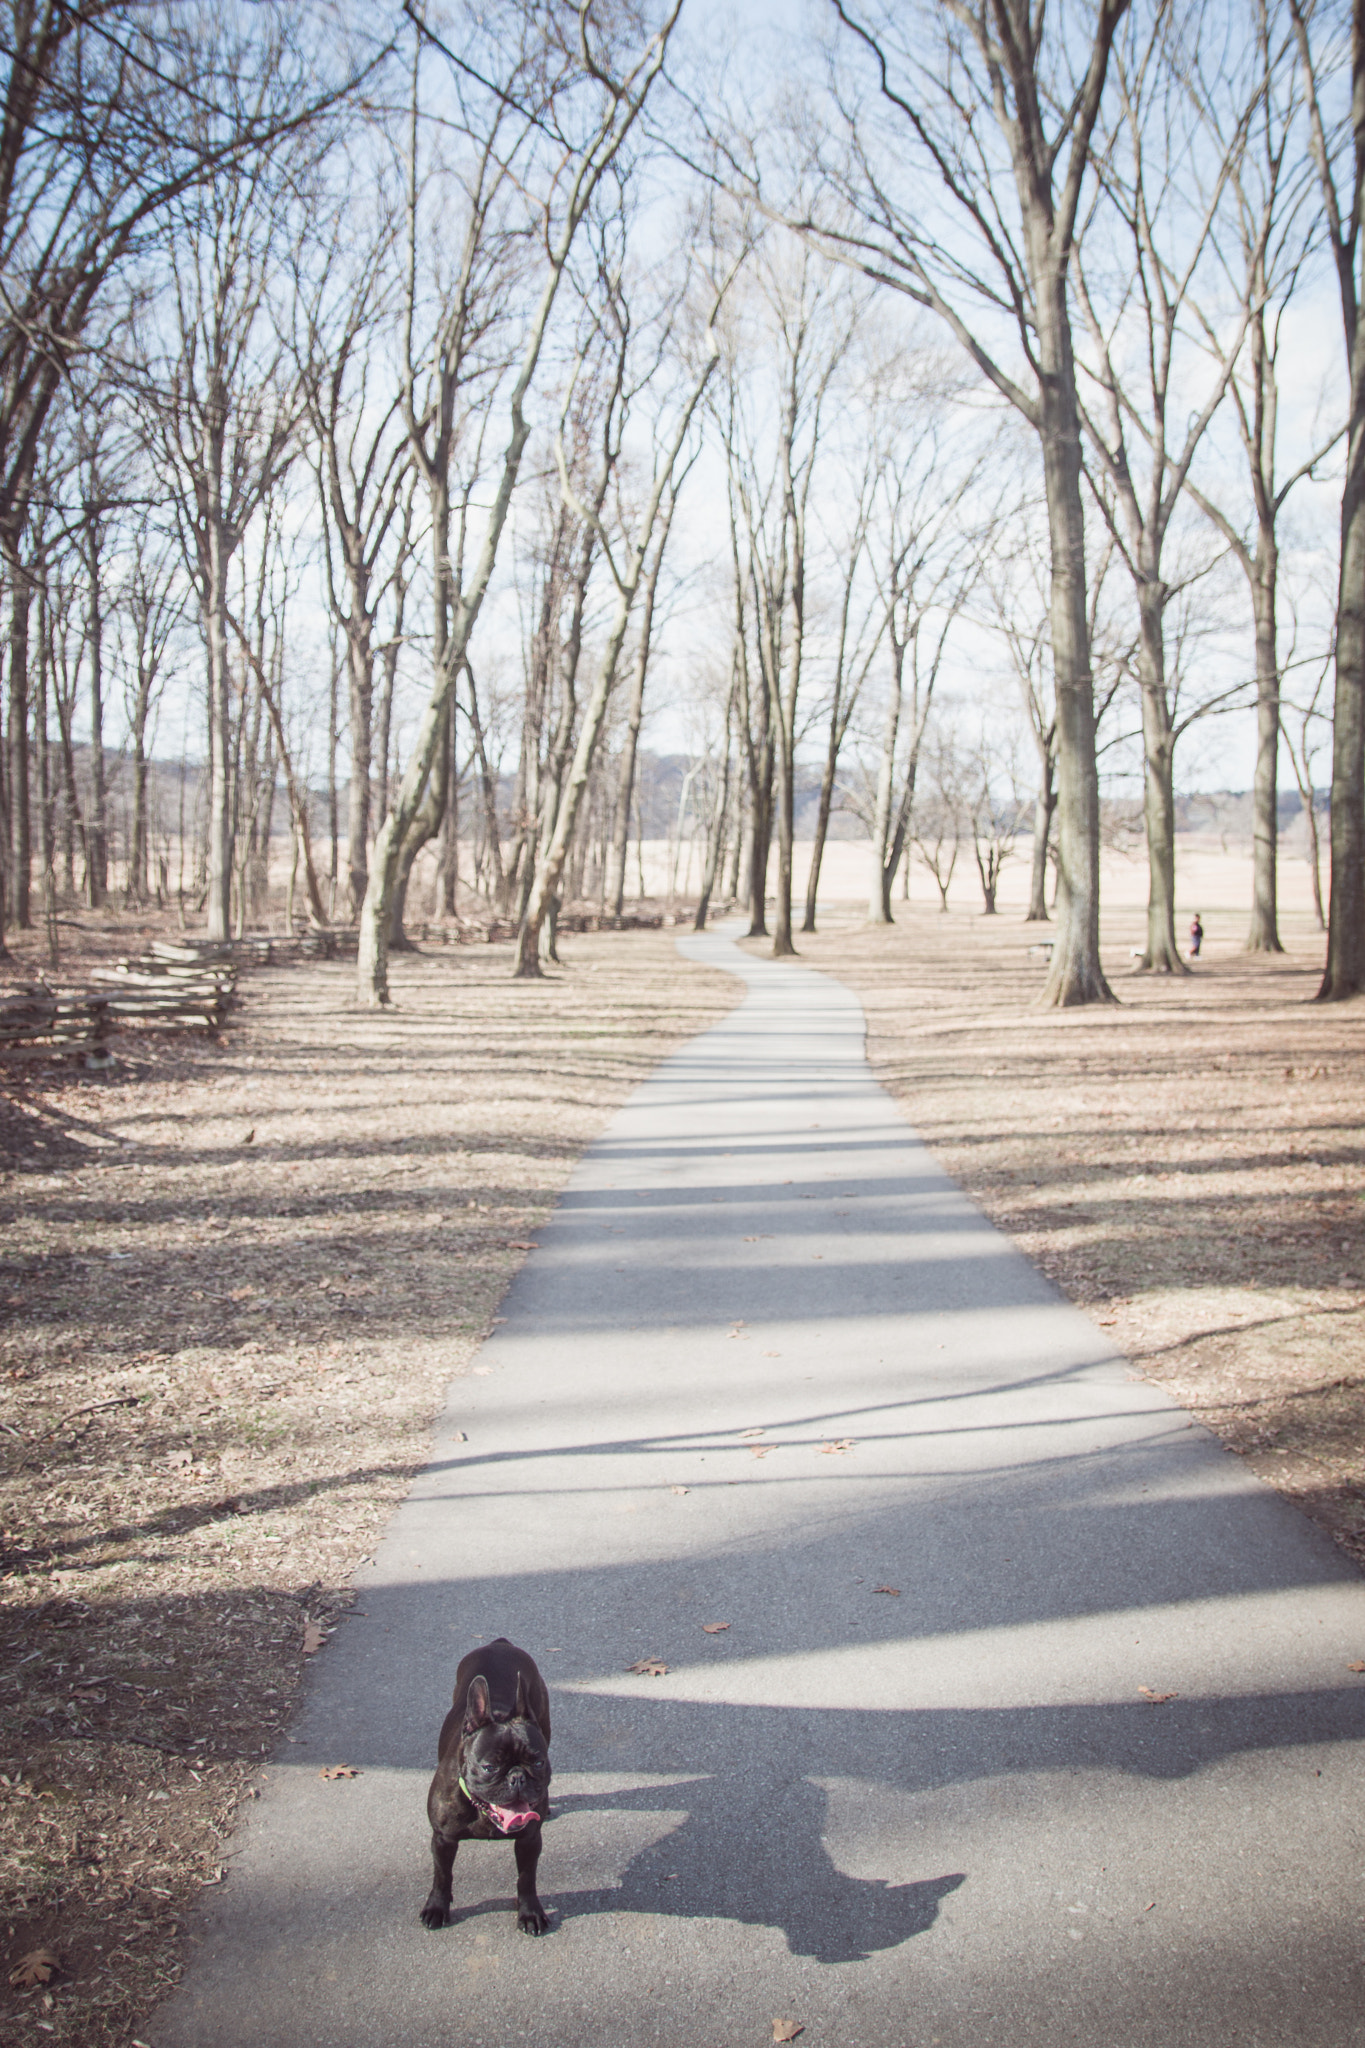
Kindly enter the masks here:
M 684 950 L 747 999 L 573 1176 L 145 2040 L 1365 2042 L 1359 1575 L 945 1180 L 847 989 Z M 417 1923 L 493 1634 L 553 1696 L 540 1942 L 501 1843 Z

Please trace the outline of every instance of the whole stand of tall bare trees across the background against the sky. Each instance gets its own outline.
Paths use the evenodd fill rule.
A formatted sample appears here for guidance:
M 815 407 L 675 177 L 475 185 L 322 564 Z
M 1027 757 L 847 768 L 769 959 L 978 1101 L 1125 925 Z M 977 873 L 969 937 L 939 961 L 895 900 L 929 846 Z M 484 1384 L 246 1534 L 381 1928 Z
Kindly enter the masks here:
M 968 844 L 993 911 L 1031 836 L 1048 995 L 1101 1001 L 1105 760 L 1183 971 L 1177 745 L 1254 705 L 1248 944 L 1330 731 L 1365 987 L 1365 0 L 831 0 L 739 106 L 681 0 L 0 25 L 6 920 L 55 948 L 117 840 L 227 936 L 287 825 L 362 999 L 424 848 L 538 975 L 622 913 L 665 700 L 698 922 L 794 950 L 841 813 L 874 922 Z

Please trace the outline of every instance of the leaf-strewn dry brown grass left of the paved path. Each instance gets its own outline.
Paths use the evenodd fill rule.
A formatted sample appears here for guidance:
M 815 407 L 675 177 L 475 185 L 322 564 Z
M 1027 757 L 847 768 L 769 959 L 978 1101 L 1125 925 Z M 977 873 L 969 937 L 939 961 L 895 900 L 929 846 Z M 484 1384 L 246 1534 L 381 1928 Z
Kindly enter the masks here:
M 102 950 L 135 932 L 111 928 Z M 262 971 L 211 1044 L 8 1090 L 0 2034 L 127 2042 L 583 1145 L 739 995 L 671 932 Z M 477 1368 L 475 1368 L 477 1370 Z M 111 1407 L 106 1403 L 123 1403 Z M 82 1413 L 84 1411 L 84 1413 Z

